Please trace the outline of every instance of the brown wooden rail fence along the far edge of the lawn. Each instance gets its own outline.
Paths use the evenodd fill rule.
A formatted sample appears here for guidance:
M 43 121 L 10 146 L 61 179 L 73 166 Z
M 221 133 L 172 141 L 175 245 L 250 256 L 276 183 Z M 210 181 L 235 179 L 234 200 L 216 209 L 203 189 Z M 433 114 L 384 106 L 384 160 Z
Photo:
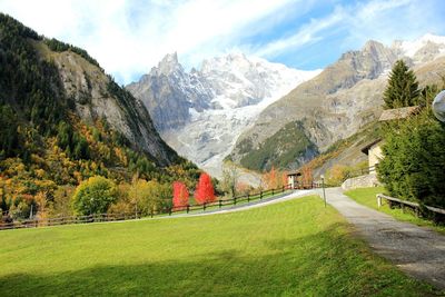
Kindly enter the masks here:
M 308 187 L 317 187 L 319 185 L 312 184 Z M 190 211 L 196 210 L 216 210 L 226 206 L 236 206 L 239 204 L 249 204 L 255 200 L 263 200 L 266 198 L 271 198 L 276 195 L 281 195 L 286 190 L 290 190 L 289 186 L 284 186 L 278 189 L 270 189 L 266 191 L 259 191 L 255 195 L 243 195 L 237 196 L 231 199 L 219 199 L 214 202 L 202 204 L 202 205 L 185 205 L 185 206 L 176 206 L 162 208 L 158 212 L 154 210 L 150 211 L 148 217 L 155 216 L 171 216 L 175 212 L 184 212 L 188 214 Z M 14 220 L 14 221 L 0 221 L 0 230 L 6 229 L 20 229 L 20 228 L 36 228 L 36 227 L 44 227 L 44 226 L 59 226 L 59 225 L 70 225 L 70 224 L 88 224 L 88 222 L 99 222 L 99 221 L 116 221 L 116 220 L 128 220 L 128 219 L 138 219 L 141 218 L 140 214 L 138 216 L 137 212 L 132 214 L 96 214 L 89 216 L 70 216 L 70 217 L 55 217 L 55 218 L 44 218 L 44 219 L 24 219 L 24 220 Z

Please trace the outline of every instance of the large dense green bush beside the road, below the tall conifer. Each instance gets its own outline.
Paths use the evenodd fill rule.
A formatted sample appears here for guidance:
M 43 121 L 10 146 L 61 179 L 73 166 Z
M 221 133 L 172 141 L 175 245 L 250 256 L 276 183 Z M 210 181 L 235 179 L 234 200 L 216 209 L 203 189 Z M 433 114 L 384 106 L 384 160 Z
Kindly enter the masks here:
M 445 125 L 429 110 L 387 127 L 378 178 L 394 197 L 445 207 Z

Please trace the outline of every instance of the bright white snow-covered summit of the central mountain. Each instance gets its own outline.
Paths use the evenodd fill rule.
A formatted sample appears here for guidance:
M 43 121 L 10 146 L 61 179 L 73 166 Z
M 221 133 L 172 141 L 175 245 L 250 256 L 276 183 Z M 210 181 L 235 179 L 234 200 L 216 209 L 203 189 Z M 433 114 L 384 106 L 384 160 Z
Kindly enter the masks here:
M 271 103 L 279 95 L 312 78 L 317 71 L 300 71 L 243 53 L 205 60 L 200 70 L 215 91 L 215 108 L 234 109 Z

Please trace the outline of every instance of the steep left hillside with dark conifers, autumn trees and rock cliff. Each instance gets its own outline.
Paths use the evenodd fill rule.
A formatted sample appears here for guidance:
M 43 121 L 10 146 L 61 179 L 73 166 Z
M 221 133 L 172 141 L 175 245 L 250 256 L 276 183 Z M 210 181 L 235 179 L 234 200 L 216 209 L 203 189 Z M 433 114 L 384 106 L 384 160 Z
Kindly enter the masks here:
M 85 50 L 0 13 L 0 214 L 67 210 L 72 189 L 97 175 L 116 185 L 137 175 L 162 189 L 197 179 Z

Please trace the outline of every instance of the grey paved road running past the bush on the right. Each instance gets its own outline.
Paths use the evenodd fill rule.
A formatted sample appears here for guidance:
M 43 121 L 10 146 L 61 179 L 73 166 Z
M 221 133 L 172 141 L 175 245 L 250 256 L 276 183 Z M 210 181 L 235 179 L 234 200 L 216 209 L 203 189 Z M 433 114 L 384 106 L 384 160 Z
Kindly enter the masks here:
M 317 192 L 323 197 L 322 190 Z M 326 197 L 377 254 L 408 275 L 445 289 L 445 236 L 362 206 L 340 188 L 326 189 Z

